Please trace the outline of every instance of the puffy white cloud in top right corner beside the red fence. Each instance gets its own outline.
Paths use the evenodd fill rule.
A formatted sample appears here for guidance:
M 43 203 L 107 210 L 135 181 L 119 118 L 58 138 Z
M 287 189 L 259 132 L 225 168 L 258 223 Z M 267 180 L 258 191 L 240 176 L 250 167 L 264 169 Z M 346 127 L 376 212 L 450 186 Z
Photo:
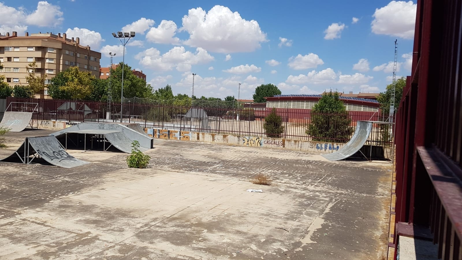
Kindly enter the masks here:
M 372 32 L 404 39 L 414 37 L 417 4 L 413 1 L 391 1 L 382 8 L 377 8 L 372 17 Z

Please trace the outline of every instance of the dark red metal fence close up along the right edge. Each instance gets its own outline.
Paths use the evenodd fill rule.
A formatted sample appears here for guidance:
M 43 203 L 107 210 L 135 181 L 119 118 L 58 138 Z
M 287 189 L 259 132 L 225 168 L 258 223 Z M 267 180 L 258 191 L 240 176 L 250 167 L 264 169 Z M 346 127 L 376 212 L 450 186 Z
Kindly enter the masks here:
M 462 0 L 417 1 L 413 73 L 396 118 L 393 246 L 400 235 L 431 239 L 444 260 L 462 259 L 461 11 Z

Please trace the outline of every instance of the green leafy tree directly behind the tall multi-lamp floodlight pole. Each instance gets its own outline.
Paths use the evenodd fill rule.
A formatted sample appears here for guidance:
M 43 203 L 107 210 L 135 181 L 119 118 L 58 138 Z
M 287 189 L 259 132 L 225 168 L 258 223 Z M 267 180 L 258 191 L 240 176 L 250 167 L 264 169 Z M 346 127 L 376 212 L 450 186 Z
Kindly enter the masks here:
M 122 64 L 120 62 L 116 69 L 111 68 L 112 100 L 121 100 L 122 91 Z M 153 98 L 151 84 L 138 78 L 133 74 L 132 68 L 125 64 L 123 68 L 123 96 L 124 98 Z

